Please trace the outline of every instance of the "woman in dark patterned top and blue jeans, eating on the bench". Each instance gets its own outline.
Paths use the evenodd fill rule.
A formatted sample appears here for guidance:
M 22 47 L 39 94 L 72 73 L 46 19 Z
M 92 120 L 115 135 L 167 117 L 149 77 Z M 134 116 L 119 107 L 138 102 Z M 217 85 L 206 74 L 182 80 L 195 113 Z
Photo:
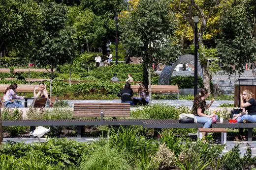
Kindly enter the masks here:
M 212 117 L 215 116 L 216 120 L 218 120 L 218 116 L 216 114 L 205 115 L 204 111 L 209 109 L 214 102 L 214 99 L 211 100 L 209 104 L 206 105 L 205 99 L 209 97 L 208 90 L 203 88 L 200 90 L 200 93 L 195 96 L 194 104 L 192 108 L 192 114 L 195 115 L 195 118 L 198 123 L 203 123 L 204 128 L 209 128 L 212 125 Z M 205 132 L 202 133 L 202 136 L 205 136 Z

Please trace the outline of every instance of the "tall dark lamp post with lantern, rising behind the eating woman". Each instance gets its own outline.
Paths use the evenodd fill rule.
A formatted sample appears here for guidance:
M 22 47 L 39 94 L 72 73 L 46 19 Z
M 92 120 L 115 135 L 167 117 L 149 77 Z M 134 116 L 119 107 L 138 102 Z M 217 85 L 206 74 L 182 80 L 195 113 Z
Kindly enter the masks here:
M 197 44 L 197 24 L 199 22 L 198 16 L 194 16 L 194 97 L 197 95 L 197 49 L 198 49 L 198 44 Z

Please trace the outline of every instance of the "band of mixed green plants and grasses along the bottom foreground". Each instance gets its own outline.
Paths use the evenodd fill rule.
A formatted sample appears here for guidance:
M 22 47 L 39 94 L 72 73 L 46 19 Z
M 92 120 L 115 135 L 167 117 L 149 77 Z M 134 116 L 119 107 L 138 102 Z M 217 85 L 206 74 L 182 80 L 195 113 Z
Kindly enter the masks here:
M 242 170 L 255 164 L 251 148 L 240 157 L 238 146 L 222 154 L 211 136 L 192 141 L 163 133 L 158 142 L 142 127 L 109 129 L 107 138 L 92 143 L 47 139 L 45 143 L 5 142 L 0 147 L 1 170 Z M 171 156 L 170 156 L 171 155 Z

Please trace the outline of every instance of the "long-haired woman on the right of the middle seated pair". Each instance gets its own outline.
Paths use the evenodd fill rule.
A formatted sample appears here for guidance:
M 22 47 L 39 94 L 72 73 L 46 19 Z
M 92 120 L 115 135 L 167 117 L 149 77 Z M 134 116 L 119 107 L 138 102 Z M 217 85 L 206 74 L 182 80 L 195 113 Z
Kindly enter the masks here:
M 149 92 L 143 83 L 137 84 L 139 97 L 134 97 L 132 102 L 134 105 L 145 105 L 149 103 Z

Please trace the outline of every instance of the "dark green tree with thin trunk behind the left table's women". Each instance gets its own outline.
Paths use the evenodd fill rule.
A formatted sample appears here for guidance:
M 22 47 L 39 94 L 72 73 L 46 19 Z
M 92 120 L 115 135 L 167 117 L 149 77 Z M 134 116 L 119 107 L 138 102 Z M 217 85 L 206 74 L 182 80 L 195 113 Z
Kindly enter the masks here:
M 72 61 L 77 49 L 74 41 L 74 30 L 65 25 L 67 10 L 64 5 L 54 2 L 42 3 L 43 31 L 35 38 L 35 53 L 33 60 L 37 65 L 50 65 L 51 82 L 50 96 L 52 95 L 53 69 Z

